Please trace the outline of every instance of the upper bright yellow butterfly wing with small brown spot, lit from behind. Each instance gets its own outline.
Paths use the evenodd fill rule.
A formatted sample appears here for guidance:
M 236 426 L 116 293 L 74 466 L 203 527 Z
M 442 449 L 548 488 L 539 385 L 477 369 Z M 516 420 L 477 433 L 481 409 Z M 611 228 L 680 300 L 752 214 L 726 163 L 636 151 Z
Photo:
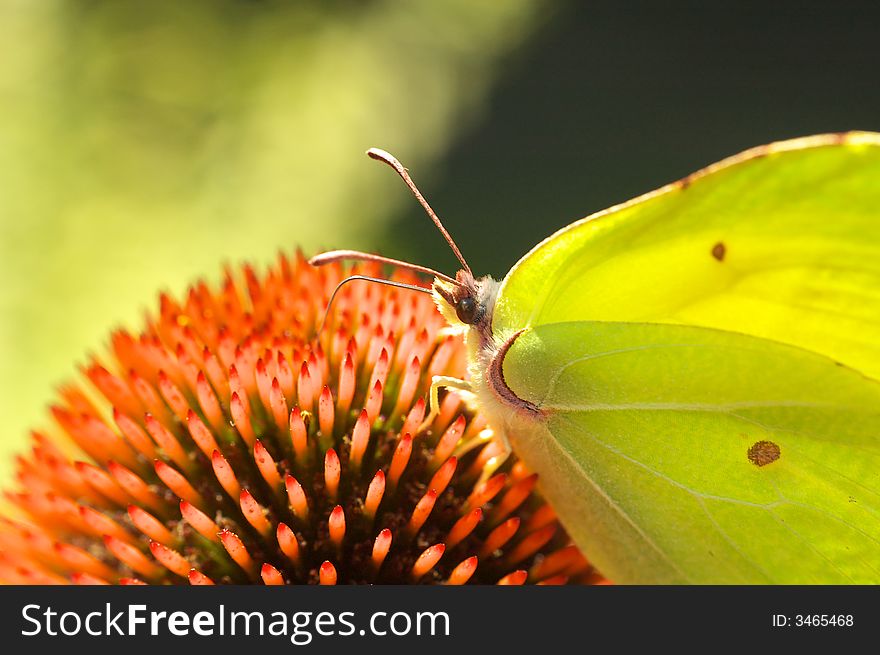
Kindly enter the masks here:
M 880 134 L 756 148 L 561 230 L 493 328 L 570 320 L 734 330 L 880 377 Z

